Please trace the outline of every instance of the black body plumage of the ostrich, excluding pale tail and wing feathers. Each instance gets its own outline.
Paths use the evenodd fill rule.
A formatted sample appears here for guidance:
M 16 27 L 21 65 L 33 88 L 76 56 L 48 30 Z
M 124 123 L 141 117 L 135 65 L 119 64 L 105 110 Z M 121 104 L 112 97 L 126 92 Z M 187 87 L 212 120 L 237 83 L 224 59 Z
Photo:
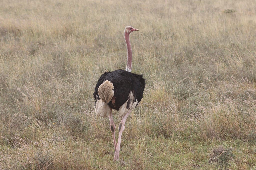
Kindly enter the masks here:
M 128 97 L 130 91 L 132 91 L 134 95 L 134 101 L 138 101 L 138 103 L 141 101 L 146 85 L 143 75 L 134 74 L 125 70 L 115 70 L 112 72 L 105 72 L 100 76 L 93 93 L 93 96 L 96 99 L 95 104 L 100 99 L 98 95 L 98 88 L 105 80 L 111 81 L 114 85 L 113 100 L 115 102 L 112 102 L 113 100 L 111 100 L 108 103 L 112 109 L 119 110 L 119 108 L 129 100 Z M 127 109 L 130 107 L 129 105 L 130 102 L 127 103 Z

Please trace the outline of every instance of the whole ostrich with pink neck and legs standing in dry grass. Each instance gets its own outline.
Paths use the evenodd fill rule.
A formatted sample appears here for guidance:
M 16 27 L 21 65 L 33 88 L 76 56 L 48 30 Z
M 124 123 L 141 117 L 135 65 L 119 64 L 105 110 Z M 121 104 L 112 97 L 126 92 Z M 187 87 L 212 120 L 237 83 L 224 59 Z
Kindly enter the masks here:
M 127 26 L 124 30 L 124 38 L 127 45 L 127 65 L 125 70 L 105 72 L 100 76 L 93 93 L 95 100 L 95 112 L 97 116 L 109 117 L 110 130 L 115 146 L 114 161 L 119 160 L 122 133 L 127 117 L 143 97 L 145 80 L 142 75 L 131 73 L 132 48 L 130 34 L 137 29 Z M 112 117 L 112 109 L 119 111 L 122 119 L 119 124 L 119 138 L 116 145 L 115 124 Z

